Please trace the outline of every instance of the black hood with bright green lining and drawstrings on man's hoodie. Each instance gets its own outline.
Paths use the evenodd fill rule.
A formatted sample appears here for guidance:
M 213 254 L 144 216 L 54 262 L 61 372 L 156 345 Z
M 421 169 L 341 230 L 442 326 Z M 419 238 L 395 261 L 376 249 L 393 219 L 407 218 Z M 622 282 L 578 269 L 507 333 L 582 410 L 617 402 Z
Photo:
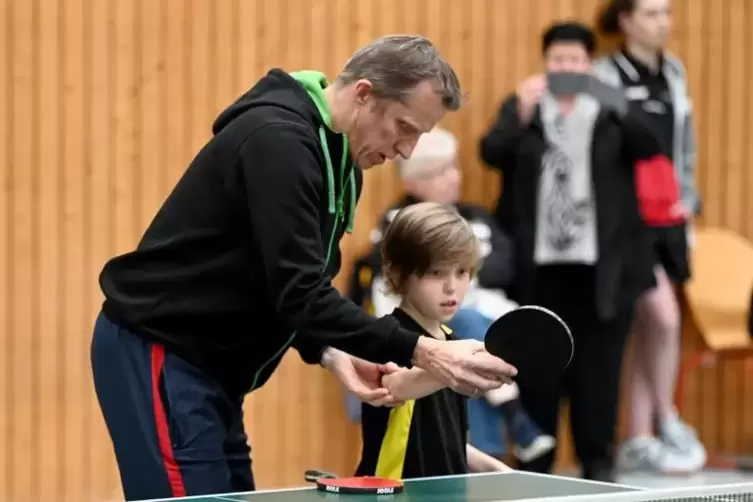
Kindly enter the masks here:
M 345 193 L 345 183 L 350 184 L 350 200 L 347 210 L 348 223 L 346 226 L 346 231 L 350 233 L 353 230 L 356 212 L 356 177 L 348 153 L 348 137 L 343 135 L 342 157 L 338 166 L 339 179 L 342 180 L 343 186 L 339 191 L 336 190 L 335 165 L 330 156 L 325 130 L 326 128 L 332 131 L 332 113 L 324 96 L 324 89 L 327 85 L 329 83 L 326 75 L 318 71 L 305 70 L 286 73 L 280 69 L 270 70 L 255 86 L 220 113 L 212 125 L 212 132 L 218 134 L 237 117 L 257 106 L 285 108 L 313 124 L 318 129 L 319 145 L 326 164 L 327 209 L 330 214 L 337 218 L 344 218 L 345 209 L 342 198 Z M 334 233 L 330 237 L 327 261 L 329 261 L 332 250 L 333 238 Z

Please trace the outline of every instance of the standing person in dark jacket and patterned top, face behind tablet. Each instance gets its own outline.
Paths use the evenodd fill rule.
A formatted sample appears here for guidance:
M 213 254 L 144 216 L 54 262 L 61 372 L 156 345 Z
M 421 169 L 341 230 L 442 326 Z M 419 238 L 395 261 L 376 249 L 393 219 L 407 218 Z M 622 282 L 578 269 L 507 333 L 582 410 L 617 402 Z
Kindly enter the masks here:
M 595 36 L 577 23 L 543 36 L 548 73 L 589 74 Z M 564 381 L 521 385 L 523 405 L 556 434 L 560 397 L 570 399 L 575 449 L 589 479 L 613 479 L 612 445 L 620 368 L 633 305 L 653 287 L 646 228 L 633 165 L 658 150 L 650 131 L 621 108 L 586 93 L 548 89 L 545 76 L 524 80 L 481 141 L 483 160 L 502 172 L 500 223 L 516 243 L 515 300 L 560 315 L 575 338 Z M 520 467 L 551 471 L 554 452 Z

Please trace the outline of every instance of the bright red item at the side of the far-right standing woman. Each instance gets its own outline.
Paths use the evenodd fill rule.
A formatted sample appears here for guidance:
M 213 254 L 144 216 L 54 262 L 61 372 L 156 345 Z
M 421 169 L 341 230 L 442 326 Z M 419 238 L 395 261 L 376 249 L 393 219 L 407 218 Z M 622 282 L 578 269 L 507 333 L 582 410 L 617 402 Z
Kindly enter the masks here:
M 681 215 L 672 208 L 680 202 L 680 185 L 675 166 L 665 155 L 657 155 L 635 165 L 635 188 L 643 221 L 650 227 L 677 225 Z

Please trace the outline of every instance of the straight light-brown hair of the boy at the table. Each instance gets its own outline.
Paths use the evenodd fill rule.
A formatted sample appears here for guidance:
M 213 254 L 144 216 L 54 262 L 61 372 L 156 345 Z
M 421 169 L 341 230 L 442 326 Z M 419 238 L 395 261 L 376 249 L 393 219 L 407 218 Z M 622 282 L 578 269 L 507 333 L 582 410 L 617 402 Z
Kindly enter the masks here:
M 458 266 L 476 271 L 478 241 L 457 210 L 438 202 L 420 202 L 401 209 L 382 241 L 384 277 L 391 293 L 403 294 L 408 278 L 433 267 Z

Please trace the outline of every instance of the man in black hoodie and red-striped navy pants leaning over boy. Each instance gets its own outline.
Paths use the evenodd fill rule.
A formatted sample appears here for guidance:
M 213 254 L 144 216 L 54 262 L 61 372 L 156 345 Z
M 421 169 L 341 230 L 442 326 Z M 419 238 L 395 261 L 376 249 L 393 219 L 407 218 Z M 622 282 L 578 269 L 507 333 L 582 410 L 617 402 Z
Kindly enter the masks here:
M 433 45 L 392 36 L 332 85 L 272 70 L 219 116 L 136 250 L 100 276 L 92 369 L 127 500 L 253 490 L 243 398 L 289 347 L 378 403 L 390 362 L 468 394 L 514 374 L 478 342 L 375 319 L 330 281 L 361 169 L 410 156 L 460 105 Z

